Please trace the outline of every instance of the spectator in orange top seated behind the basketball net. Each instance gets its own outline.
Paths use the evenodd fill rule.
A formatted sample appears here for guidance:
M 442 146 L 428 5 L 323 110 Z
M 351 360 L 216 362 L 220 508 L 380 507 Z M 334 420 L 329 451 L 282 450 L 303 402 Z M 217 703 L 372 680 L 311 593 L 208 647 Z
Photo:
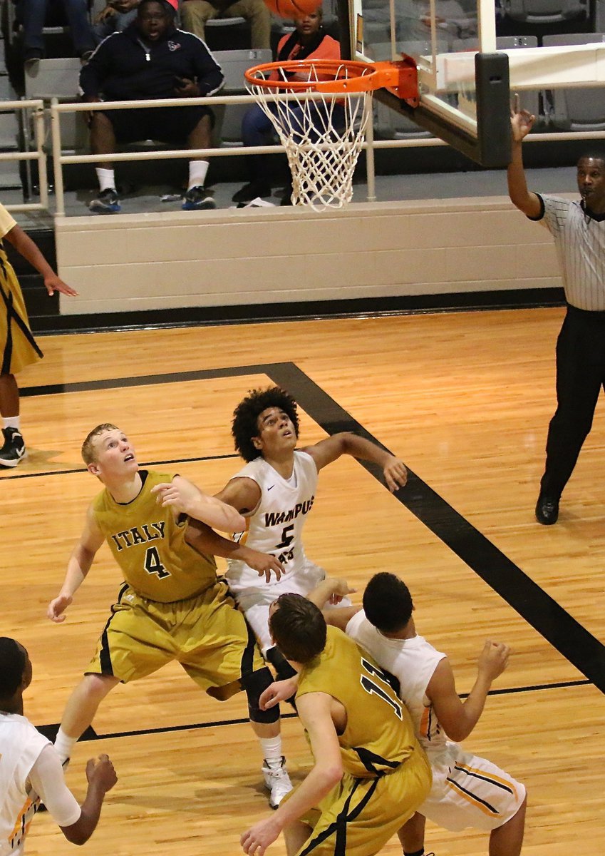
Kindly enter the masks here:
M 191 3 L 191 0 L 187 0 Z M 294 33 L 288 33 L 279 41 L 278 62 L 291 59 L 340 59 L 340 45 L 332 39 L 322 26 L 322 11 L 317 9 L 303 18 L 298 18 Z M 273 79 L 278 80 L 273 72 Z M 338 110 L 343 110 L 337 105 Z M 338 116 L 335 108 L 334 116 Z M 317 103 L 316 109 L 321 110 Z M 291 124 L 296 125 L 296 114 L 302 113 L 299 107 L 291 107 Z M 242 141 L 244 146 L 267 146 L 273 140 L 273 124 L 264 110 L 255 104 L 244 114 L 242 120 Z M 255 155 L 247 158 L 250 182 L 233 194 L 233 202 L 250 202 L 257 196 L 271 196 L 270 175 L 268 173 L 269 155 Z M 282 205 L 290 205 L 290 193 L 286 187 Z

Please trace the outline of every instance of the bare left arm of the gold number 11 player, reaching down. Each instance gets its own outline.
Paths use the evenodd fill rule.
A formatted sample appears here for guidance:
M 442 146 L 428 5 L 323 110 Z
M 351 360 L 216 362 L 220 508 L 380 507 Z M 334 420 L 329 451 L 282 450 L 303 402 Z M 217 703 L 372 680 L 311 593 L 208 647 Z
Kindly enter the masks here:
M 343 762 L 330 713 L 331 703 L 332 697 L 326 693 L 307 693 L 297 700 L 298 716 L 308 734 L 315 759 L 313 769 L 271 817 L 255 823 L 244 832 L 240 839 L 244 853 L 263 856 L 285 826 L 318 805 L 342 779 Z

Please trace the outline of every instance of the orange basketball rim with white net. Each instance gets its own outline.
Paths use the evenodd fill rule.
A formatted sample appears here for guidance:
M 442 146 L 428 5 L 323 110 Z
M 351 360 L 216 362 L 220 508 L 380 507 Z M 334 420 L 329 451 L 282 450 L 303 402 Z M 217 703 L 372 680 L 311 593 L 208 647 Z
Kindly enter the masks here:
M 384 86 L 418 103 L 416 65 L 407 56 L 400 62 L 266 62 L 249 68 L 245 78 L 285 148 L 292 203 L 314 211 L 342 208 L 353 196 L 372 92 Z

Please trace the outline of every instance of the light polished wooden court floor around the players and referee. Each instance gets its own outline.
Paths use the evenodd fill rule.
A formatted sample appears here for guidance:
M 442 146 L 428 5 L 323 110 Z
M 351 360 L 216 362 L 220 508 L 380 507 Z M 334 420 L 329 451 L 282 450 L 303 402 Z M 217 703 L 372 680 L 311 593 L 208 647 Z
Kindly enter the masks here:
M 0 477 L 0 633 L 15 636 L 32 657 L 26 716 L 39 726 L 60 721 L 120 584 L 103 548 L 68 620 L 45 618 L 98 490 L 79 459 L 87 431 L 115 422 L 139 461 L 215 491 L 240 466 L 229 431 L 233 407 L 248 389 L 280 383 L 302 408 L 301 443 L 367 431 L 411 471 L 395 497 L 352 459 L 327 467 L 307 524 L 308 555 L 360 590 L 378 570 L 402 574 L 419 633 L 449 652 L 461 693 L 473 686 L 484 639 L 513 646 L 466 745 L 526 782 L 524 853 L 601 853 L 602 407 L 560 522 L 547 528 L 533 517 L 562 314 L 458 312 L 44 337 L 44 361 L 20 378 L 29 458 Z M 269 811 L 245 716 L 243 694 L 214 702 L 176 666 L 118 687 L 68 770 L 79 798 L 87 758 L 109 752 L 120 777 L 87 853 L 239 853 L 240 833 Z M 284 737 L 300 780 L 310 758 L 295 718 L 285 720 Z M 487 836 L 427 824 L 432 850 L 475 856 L 487 852 Z M 40 815 L 27 852 L 62 856 L 72 847 Z M 384 852 L 399 853 L 396 841 Z M 269 853 L 285 853 L 282 841 Z

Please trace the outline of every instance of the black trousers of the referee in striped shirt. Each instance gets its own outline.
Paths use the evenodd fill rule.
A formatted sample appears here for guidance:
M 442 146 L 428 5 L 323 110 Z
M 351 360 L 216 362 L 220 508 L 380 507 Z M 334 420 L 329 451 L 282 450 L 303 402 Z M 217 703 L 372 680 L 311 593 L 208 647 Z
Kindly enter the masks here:
M 546 467 L 540 483 L 543 494 L 561 496 L 592 427 L 602 386 L 605 388 L 605 312 L 567 306 L 556 343 L 557 408 L 546 441 Z

